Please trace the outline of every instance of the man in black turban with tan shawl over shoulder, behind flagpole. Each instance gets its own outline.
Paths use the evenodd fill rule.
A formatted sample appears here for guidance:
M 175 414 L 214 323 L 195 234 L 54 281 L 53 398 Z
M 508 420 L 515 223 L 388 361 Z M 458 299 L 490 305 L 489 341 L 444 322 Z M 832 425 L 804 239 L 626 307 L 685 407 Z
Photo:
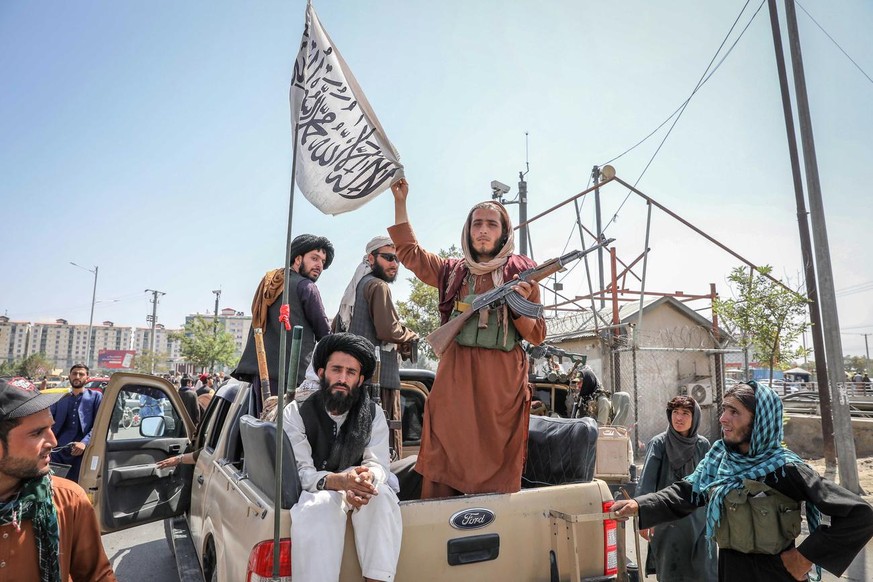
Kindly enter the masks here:
M 291 293 L 288 296 L 288 326 L 279 321 L 282 292 L 285 290 L 285 270 L 273 269 L 264 275 L 252 301 L 252 327 L 246 348 L 231 376 L 255 384 L 259 394 L 258 359 L 255 354 L 254 329 L 264 330 L 264 349 L 270 371 L 270 391 L 277 394 L 279 386 L 279 334 L 290 326 L 303 326 L 303 345 L 300 349 L 300 368 L 294 386 L 299 386 L 306 375 L 306 367 L 315 342 L 330 333 L 330 323 L 324 313 L 324 304 L 315 282 L 322 271 L 333 262 L 333 245 L 323 236 L 301 234 L 291 242 Z M 286 361 L 291 354 L 291 338 L 285 345 Z

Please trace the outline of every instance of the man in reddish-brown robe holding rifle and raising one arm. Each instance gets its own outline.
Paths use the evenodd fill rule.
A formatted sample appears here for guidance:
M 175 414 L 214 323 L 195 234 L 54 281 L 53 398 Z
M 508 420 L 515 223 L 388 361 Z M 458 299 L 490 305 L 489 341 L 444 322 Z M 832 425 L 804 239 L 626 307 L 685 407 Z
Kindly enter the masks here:
M 512 221 L 502 205 L 474 206 L 461 234 L 464 258 L 443 259 L 415 238 L 406 212 L 406 180 L 395 182 L 391 192 L 395 224 L 388 233 L 403 265 L 439 291 L 441 324 L 469 308 L 476 295 L 535 266 L 513 254 Z M 536 284 L 519 281 L 514 290 L 523 299 L 540 301 Z M 440 359 L 425 404 L 416 464 L 423 498 L 521 489 L 530 418 L 528 358 L 521 340 L 542 343 L 546 324 L 505 304 L 478 315 Z

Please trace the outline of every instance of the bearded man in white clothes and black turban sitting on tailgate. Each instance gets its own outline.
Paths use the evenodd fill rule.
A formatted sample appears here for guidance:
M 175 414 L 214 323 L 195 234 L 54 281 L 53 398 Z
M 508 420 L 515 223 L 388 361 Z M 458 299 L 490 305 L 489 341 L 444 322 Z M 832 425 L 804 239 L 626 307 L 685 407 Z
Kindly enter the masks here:
M 367 390 L 374 352 L 361 336 L 325 337 L 312 356 L 321 388 L 285 408 L 285 432 L 303 486 L 291 508 L 295 582 L 339 579 L 347 512 L 364 579 L 394 579 L 403 526 L 388 481 L 388 424 Z

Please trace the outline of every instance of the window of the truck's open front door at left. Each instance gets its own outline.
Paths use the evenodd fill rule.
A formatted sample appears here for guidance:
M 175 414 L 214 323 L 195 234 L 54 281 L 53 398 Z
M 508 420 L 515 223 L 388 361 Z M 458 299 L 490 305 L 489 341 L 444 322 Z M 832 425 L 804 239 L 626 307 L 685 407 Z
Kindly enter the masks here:
M 119 393 L 107 440 L 145 439 L 140 433 L 142 419 L 149 416 L 164 418 L 164 437 L 185 436 L 185 425 L 179 411 L 167 395 L 149 386 L 126 386 Z

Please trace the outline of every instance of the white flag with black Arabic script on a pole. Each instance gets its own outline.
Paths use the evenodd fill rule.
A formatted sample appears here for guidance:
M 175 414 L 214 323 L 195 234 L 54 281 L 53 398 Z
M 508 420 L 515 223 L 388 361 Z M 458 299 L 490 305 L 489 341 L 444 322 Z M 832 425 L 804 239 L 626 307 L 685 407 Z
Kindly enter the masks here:
M 294 63 L 291 119 L 297 186 L 325 214 L 363 206 L 403 176 L 400 155 L 311 2 Z

